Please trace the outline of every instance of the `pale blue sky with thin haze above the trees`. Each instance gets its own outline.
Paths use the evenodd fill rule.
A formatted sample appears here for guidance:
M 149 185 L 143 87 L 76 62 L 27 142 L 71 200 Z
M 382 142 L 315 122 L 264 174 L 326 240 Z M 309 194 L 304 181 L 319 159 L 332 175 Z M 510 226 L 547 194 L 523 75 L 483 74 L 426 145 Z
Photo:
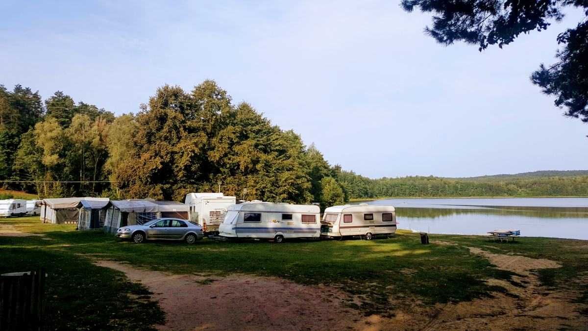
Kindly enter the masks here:
M 213 79 L 369 177 L 588 168 L 588 125 L 529 82 L 580 12 L 480 53 L 436 44 L 398 3 L 4 0 L 0 84 L 122 114 Z

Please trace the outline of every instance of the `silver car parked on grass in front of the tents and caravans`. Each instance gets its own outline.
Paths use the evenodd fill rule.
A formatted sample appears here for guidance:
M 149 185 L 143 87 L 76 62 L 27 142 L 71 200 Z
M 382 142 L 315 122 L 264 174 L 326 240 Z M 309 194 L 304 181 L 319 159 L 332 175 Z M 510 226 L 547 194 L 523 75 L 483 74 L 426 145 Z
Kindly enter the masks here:
M 116 230 L 116 237 L 131 239 L 133 243 L 145 240 L 185 240 L 193 244 L 204 234 L 198 224 L 181 219 L 155 219 L 142 225 L 123 226 Z

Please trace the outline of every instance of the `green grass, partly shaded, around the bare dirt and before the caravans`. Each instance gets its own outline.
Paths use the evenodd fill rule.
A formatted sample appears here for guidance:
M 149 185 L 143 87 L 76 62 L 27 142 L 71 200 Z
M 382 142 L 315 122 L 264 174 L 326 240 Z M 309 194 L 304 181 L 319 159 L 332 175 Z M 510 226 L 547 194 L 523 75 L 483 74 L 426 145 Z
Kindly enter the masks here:
M 413 233 L 400 232 L 390 239 L 343 241 L 265 241 L 243 243 L 202 240 L 194 245 L 156 242 L 132 244 L 101 231 L 75 231 L 75 226 L 39 223 L 38 217 L 1 219 L 0 226 L 45 237 L 0 237 L 0 273 L 48 269 L 48 323 L 60 328 L 113 329 L 124 323 L 131 329 L 149 329 L 161 322 L 162 313 L 149 293 L 125 276 L 94 266 L 92 259 L 129 262 L 135 266 L 171 273 L 250 273 L 278 276 L 302 284 L 330 284 L 349 293 L 363 294 L 360 304 L 349 303 L 366 315 L 390 316 L 390 296 L 413 297 L 425 304 L 462 302 L 503 292 L 485 279 L 512 282 L 513 273 L 496 269 L 487 259 L 470 253 L 480 247 L 495 253 L 516 253 L 563 264 L 540 270 L 542 285 L 566 287 L 583 293 L 588 287 L 573 282 L 588 272 L 586 241 L 521 238 L 516 243 L 487 243 L 476 236 L 434 235 L 433 239 L 456 245 L 421 245 Z M 47 240 L 51 239 L 51 240 Z M 135 295 L 128 295 L 135 294 Z M 146 314 L 149 311 L 151 313 Z M 119 326 L 119 328 L 121 328 Z M 127 327 L 122 327 L 125 329 Z

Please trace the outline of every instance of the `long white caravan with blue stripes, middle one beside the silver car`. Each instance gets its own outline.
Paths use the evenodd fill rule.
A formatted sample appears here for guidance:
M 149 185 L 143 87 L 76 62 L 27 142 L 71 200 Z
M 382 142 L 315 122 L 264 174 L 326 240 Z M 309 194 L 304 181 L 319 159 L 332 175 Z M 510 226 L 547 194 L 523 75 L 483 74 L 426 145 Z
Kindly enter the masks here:
M 274 239 L 319 238 L 320 208 L 312 204 L 250 201 L 230 206 L 220 236 Z

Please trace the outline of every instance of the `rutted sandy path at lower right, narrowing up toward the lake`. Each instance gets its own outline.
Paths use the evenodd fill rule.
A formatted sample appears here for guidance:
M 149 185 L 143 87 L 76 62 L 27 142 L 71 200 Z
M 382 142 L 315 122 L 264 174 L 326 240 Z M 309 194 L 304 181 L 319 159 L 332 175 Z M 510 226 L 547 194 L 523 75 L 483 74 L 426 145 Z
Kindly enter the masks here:
M 436 304 L 434 307 L 406 306 L 396 317 L 383 320 L 372 316 L 379 330 L 588 330 L 586 309 L 572 303 L 580 293 L 564 290 L 550 292 L 540 286 L 533 270 L 558 268 L 552 260 L 531 259 L 510 254 L 495 254 L 469 247 L 470 252 L 489 259 L 497 268 L 515 272 L 520 285 L 489 279 L 490 285 L 502 286 L 507 294 L 492 293 L 493 297 L 472 302 Z

